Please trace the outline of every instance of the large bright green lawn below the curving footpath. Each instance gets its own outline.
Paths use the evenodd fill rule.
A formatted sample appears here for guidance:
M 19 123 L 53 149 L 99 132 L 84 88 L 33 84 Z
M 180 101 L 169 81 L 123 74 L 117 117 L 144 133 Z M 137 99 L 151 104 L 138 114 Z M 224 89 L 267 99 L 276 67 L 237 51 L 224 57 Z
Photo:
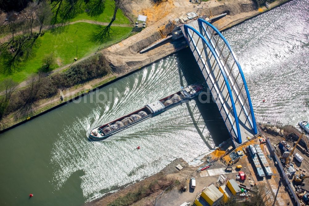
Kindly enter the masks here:
M 116 40 L 132 30 L 131 27 L 112 27 L 112 39 L 107 42 L 97 43 L 91 41 L 91 35 L 96 31 L 96 28 L 94 24 L 76 23 L 70 25 L 61 34 L 52 34 L 50 31 L 46 31 L 44 36 L 38 39 L 39 48 L 36 49 L 34 57 L 25 62 L 20 71 L 15 71 L 10 75 L 1 74 L 0 81 L 8 77 L 16 82 L 24 81 L 29 75 L 38 71 L 44 56 L 52 52 L 62 66 L 72 63 L 76 56 L 76 46 L 78 47 L 77 56 L 82 58 L 93 54 L 99 46 Z

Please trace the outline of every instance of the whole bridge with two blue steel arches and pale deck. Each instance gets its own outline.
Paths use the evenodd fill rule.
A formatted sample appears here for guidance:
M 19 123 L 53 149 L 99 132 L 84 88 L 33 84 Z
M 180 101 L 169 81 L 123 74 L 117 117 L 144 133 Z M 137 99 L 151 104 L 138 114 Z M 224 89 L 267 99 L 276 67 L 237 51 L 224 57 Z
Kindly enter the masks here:
M 202 18 L 181 26 L 235 146 L 260 133 L 239 62 L 224 36 Z

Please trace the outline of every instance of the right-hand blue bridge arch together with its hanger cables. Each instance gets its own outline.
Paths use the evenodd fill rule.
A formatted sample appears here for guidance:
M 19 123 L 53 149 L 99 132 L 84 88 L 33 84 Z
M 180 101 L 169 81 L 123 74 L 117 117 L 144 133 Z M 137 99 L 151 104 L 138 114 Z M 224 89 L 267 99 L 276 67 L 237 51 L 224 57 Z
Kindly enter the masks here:
M 246 116 L 246 121 L 249 121 L 252 131 L 254 134 L 257 134 L 256 120 L 248 86 L 231 46 L 212 24 L 204 19 L 198 19 L 198 23 L 200 32 L 209 41 L 209 44 L 214 48 L 215 53 L 221 60 L 220 63 L 227 74 L 229 84 L 236 96 L 235 104 L 238 101 L 242 105 L 241 111 L 238 111 L 238 114 L 240 115 L 243 112 Z

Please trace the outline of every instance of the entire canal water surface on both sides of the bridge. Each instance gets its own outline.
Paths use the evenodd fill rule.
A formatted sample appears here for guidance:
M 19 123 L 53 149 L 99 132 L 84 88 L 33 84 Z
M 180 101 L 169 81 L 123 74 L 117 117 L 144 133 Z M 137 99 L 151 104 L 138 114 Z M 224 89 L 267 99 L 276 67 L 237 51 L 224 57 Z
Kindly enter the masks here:
M 223 32 L 243 68 L 258 121 L 296 126 L 309 119 L 308 16 L 309 3 L 294 0 Z M 0 134 L 0 205 L 83 205 L 175 158 L 191 161 L 208 152 L 228 138 L 212 101 L 193 100 L 105 141 L 87 140 L 100 123 L 202 80 L 185 49 Z

